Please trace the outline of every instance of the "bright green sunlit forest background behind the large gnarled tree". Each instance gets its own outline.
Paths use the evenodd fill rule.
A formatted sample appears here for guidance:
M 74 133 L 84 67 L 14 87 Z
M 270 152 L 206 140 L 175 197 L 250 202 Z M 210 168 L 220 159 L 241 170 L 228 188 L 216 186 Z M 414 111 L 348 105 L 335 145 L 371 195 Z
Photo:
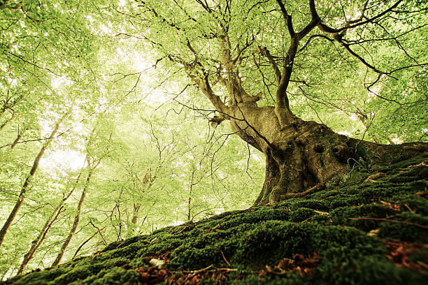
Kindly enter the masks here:
M 238 2 L 234 7 L 243 10 L 235 9 L 236 15 L 256 5 Z M 350 16 L 367 3 L 321 2 Z M 130 32 L 140 4 L 1 1 L 1 279 L 162 226 L 245 209 L 257 198 L 264 155 L 229 124 L 210 126 L 215 110 L 183 66 Z M 150 4 L 162 10 L 161 3 Z M 368 89 L 362 82 L 376 78 L 370 68 L 324 43 L 322 60 L 336 66 L 329 58 L 334 54 L 351 67 L 332 68 L 326 80 L 313 66 L 299 66 L 301 77 L 289 94 L 295 114 L 357 139 L 427 140 L 427 3 L 401 4 L 412 13 L 388 27 L 401 36 L 359 48 L 380 58 L 380 65 L 414 61 L 413 68 Z M 259 11 L 281 18 L 278 10 Z M 199 24 L 201 31 L 210 25 Z M 283 22 L 275 25 L 286 31 Z M 249 46 L 262 46 L 262 34 Z M 177 41 L 165 31 L 162 37 L 171 45 Z M 269 67 L 260 52 L 250 55 L 241 63 L 247 72 Z M 270 105 L 269 88 L 276 83 L 259 79 L 251 85 L 263 90 L 262 104 Z

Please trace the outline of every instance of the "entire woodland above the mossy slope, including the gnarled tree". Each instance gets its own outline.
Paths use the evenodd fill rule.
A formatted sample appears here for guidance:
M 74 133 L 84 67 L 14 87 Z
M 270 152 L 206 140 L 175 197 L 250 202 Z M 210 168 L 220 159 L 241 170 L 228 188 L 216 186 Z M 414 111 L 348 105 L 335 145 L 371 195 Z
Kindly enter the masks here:
M 427 11 L 0 1 L 1 278 L 425 152 Z

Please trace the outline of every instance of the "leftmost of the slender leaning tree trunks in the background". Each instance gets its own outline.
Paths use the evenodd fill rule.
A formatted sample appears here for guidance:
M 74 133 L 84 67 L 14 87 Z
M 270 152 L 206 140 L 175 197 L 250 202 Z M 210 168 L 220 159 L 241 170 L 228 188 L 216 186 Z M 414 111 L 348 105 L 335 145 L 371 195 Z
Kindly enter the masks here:
M 10 224 L 12 224 L 13 220 L 16 217 L 18 210 L 20 210 L 20 207 L 21 207 L 22 203 L 24 202 L 25 194 L 27 193 L 27 189 L 29 187 L 31 179 L 34 177 L 34 173 L 36 173 L 36 170 L 38 168 L 38 163 L 40 163 L 40 160 L 41 160 L 43 154 L 45 153 L 45 149 L 48 147 L 48 145 L 50 144 L 50 142 L 54 138 L 55 134 L 57 133 L 57 131 L 59 129 L 59 125 L 64 121 L 64 119 L 69 115 L 69 113 L 70 112 L 66 112 L 61 117 L 61 119 L 59 119 L 57 124 L 55 124 L 55 127 L 54 127 L 52 133 L 50 133 L 48 140 L 41 147 L 40 152 L 38 152 L 38 154 L 36 156 L 36 159 L 34 159 L 33 166 L 31 167 L 30 173 L 27 176 L 27 178 L 25 179 L 24 184 L 22 185 L 20 194 L 19 194 L 18 199 L 15 203 L 15 207 L 13 207 L 12 211 L 9 214 L 8 219 L 6 220 L 6 222 L 3 225 L 3 228 L 1 228 L 1 230 L 0 230 L 0 246 L 3 243 L 4 237 L 8 231 L 8 228 L 10 227 Z

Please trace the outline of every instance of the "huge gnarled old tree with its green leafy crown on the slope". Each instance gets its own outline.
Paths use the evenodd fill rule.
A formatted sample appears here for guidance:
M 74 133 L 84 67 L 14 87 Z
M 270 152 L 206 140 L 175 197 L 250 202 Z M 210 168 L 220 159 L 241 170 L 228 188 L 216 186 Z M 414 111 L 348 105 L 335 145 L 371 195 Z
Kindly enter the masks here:
M 229 121 L 266 156 L 256 205 L 320 189 L 356 161 L 390 163 L 427 150 L 423 142 L 349 138 L 301 118 L 311 104 L 346 112 L 352 96 L 388 105 L 390 114 L 420 104 L 426 109 L 419 93 L 426 85 L 398 78 L 427 76 L 427 47 L 415 42 L 426 36 L 427 8 L 402 0 L 149 0 L 115 7 L 131 23 L 122 35 L 150 43 L 161 54 L 157 63 L 185 73 L 208 98 L 219 114 L 211 118 L 214 125 Z M 417 128 L 424 132 L 423 124 Z

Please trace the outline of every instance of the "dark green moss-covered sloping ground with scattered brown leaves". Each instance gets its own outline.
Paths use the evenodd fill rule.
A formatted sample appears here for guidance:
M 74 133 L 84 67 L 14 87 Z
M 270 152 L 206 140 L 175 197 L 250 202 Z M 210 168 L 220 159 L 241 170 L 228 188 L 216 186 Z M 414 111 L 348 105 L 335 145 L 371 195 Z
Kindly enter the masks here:
M 5 283 L 428 284 L 427 160 L 355 167 L 304 198 L 162 228 Z

